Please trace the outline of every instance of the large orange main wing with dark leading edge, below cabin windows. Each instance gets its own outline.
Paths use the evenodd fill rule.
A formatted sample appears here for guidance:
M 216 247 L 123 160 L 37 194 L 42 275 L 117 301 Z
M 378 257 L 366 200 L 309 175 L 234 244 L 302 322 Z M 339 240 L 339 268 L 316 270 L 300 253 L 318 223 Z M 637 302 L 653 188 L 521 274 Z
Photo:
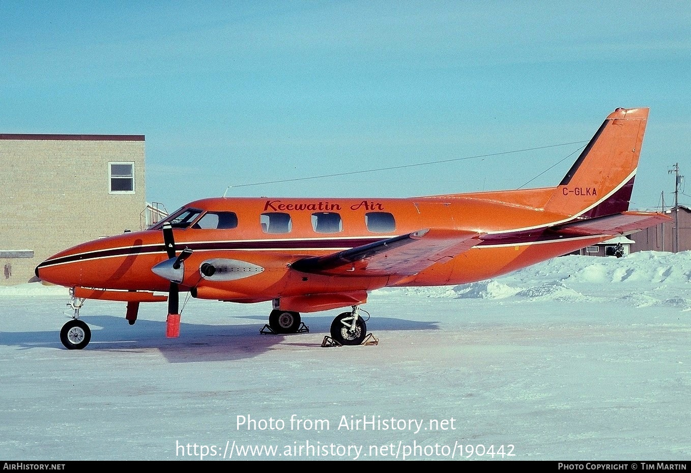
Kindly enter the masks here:
M 410 276 L 470 250 L 482 241 L 479 236 L 466 230 L 418 230 L 350 250 L 303 258 L 291 268 L 318 275 Z

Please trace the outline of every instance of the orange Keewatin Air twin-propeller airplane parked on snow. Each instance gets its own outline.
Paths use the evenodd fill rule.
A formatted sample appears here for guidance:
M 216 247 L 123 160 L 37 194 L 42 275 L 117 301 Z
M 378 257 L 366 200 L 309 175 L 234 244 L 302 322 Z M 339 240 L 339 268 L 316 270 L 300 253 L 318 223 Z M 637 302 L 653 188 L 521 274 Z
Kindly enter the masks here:
M 556 187 L 415 198 L 205 198 L 141 232 L 64 250 L 36 268 L 70 288 L 75 310 L 61 330 L 68 349 L 91 331 L 84 299 L 168 302 L 177 336 L 180 291 L 200 299 L 272 301 L 269 327 L 300 331 L 300 313 L 350 307 L 331 336 L 361 344 L 359 306 L 384 287 L 443 286 L 496 277 L 657 225 L 630 212 L 648 109 L 616 109 Z M 164 293 L 167 292 L 167 295 Z M 158 293 L 158 294 L 157 294 Z

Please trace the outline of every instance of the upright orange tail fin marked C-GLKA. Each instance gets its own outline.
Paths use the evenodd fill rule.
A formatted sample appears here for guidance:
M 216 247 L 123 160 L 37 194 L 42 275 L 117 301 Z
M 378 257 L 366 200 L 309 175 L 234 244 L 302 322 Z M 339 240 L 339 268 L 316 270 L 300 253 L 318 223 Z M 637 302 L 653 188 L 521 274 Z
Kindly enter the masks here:
M 587 218 L 628 210 L 648 111 L 610 113 L 555 188 L 545 210 Z

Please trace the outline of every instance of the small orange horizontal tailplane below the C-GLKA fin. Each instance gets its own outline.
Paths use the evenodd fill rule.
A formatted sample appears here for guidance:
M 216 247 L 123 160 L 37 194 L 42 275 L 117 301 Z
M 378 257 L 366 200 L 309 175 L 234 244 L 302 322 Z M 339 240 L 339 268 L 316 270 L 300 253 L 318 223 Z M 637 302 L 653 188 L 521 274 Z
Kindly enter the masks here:
M 621 212 L 594 219 L 579 220 L 550 228 L 557 233 L 578 235 L 630 234 L 672 220 L 655 212 Z

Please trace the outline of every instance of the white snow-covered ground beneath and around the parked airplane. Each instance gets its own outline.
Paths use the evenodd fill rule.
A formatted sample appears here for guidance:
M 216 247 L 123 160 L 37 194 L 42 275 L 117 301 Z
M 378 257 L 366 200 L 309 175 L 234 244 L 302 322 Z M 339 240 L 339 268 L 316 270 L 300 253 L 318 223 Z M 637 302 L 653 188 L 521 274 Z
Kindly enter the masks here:
M 689 252 L 562 257 L 376 291 L 379 345 L 343 348 L 339 310 L 272 336 L 270 304 L 191 299 L 166 339 L 164 304 L 88 301 L 68 351 L 66 290 L 0 288 L 0 456 L 688 460 L 690 289 Z

